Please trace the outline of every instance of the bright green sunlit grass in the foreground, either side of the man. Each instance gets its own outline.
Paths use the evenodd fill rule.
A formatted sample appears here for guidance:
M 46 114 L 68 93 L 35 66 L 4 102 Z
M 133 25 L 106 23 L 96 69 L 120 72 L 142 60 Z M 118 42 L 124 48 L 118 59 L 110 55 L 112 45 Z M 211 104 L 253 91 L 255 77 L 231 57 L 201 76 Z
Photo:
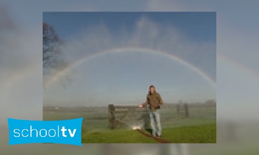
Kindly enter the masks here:
M 216 143 L 216 124 L 163 129 L 171 143 Z M 82 135 L 82 143 L 157 143 L 133 130 L 96 131 Z

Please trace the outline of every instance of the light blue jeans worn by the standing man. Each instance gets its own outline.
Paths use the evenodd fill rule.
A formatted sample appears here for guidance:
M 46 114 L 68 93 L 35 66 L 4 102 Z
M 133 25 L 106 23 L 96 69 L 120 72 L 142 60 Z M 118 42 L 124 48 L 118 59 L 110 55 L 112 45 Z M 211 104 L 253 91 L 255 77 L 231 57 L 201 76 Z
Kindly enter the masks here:
M 159 109 L 155 110 L 155 111 L 151 111 L 150 110 L 150 124 L 151 124 L 151 128 L 152 128 L 152 135 L 156 136 L 156 134 L 158 136 L 160 136 L 162 134 L 162 126 L 161 126 L 161 121 L 160 121 L 160 111 Z M 157 128 L 156 128 L 157 125 Z

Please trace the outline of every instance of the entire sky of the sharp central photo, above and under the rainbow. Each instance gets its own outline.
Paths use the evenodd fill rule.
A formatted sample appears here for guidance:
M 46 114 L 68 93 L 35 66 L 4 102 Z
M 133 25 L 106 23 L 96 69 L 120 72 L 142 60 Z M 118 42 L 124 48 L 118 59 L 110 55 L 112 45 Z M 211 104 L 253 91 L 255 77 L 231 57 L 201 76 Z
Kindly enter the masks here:
M 149 46 L 191 63 L 216 81 L 215 12 L 44 12 L 43 21 L 72 47 L 64 48 L 67 57 L 79 60 L 113 48 Z M 141 23 L 144 27 L 138 26 Z M 216 99 L 216 88 L 204 77 L 159 53 L 108 53 L 84 61 L 67 74 L 71 85 L 64 89 L 58 82 L 52 84 L 44 90 L 45 101 L 139 104 L 151 84 L 165 102 Z

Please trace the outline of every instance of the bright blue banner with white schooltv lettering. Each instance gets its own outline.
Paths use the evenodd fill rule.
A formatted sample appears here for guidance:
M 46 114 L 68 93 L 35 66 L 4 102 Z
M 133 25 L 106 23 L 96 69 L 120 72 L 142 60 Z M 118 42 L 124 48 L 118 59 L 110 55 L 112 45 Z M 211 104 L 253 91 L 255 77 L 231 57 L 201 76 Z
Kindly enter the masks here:
M 29 121 L 7 119 L 9 145 L 28 143 L 59 143 L 82 146 L 83 118 L 61 121 Z

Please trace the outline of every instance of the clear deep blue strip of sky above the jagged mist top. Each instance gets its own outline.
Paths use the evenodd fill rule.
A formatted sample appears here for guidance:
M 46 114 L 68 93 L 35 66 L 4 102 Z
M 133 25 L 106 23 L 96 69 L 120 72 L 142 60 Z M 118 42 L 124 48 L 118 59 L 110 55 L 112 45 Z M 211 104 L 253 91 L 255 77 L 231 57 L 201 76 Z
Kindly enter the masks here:
M 216 12 L 43 12 L 43 21 L 52 25 L 61 38 L 73 37 L 85 27 L 105 23 L 116 33 L 121 26 L 132 31 L 141 16 L 170 24 L 190 40 L 216 42 Z

